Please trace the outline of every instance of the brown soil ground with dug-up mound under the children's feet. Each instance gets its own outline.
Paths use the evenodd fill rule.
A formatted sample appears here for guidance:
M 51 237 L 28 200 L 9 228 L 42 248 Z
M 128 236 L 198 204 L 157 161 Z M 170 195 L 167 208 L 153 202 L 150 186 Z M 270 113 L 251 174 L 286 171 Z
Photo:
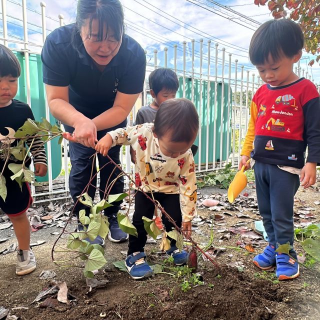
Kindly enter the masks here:
M 312 223 L 320 222 L 320 205 L 314 203 L 319 199 L 320 183 L 308 190 L 299 189 L 296 195 L 295 207 L 303 203 L 305 206 L 315 207 L 312 213 Z M 246 190 L 254 195 L 254 187 Z M 225 194 L 226 190 L 217 188 L 200 189 L 201 194 Z M 245 208 L 244 208 L 245 209 Z M 198 209 L 202 217 L 210 217 L 215 211 L 207 208 Z M 221 227 L 228 228 L 238 222 L 247 222 L 253 228 L 253 220 L 259 219 L 252 211 L 241 213 L 249 218 L 238 218 L 234 211 L 232 216 L 226 215 L 225 225 L 215 225 L 213 230 Z M 216 221 L 220 222 L 220 221 Z M 207 223 L 199 226 L 194 232 L 194 238 L 199 243 L 208 241 L 210 227 Z M 210 262 L 198 259 L 198 272 L 203 279 L 203 285 L 192 286 L 186 292 L 181 290 L 182 280 L 170 276 L 168 273 L 156 274 L 145 280 L 133 280 L 126 272 L 116 269 L 112 262 L 123 259 L 120 251 L 125 251 L 127 243 L 114 244 L 106 240 L 105 258 L 107 264 L 96 275 L 97 279 L 107 279 L 103 287 L 92 288 L 86 285 L 80 268 L 60 268 L 51 260 L 50 252 L 56 235 L 50 232 L 60 228 L 51 227 L 32 232 L 31 242 L 39 239 L 46 243 L 35 246 L 33 251 L 37 259 L 34 272 L 17 276 L 14 273 L 15 253 L 0 255 L 0 306 L 12 308 L 16 306 L 28 307 L 27 310 L 14 310 L 21 319 L 37 320 L 69 320 L 69 319 L 279 319 L 304 320 L 320 319 L 320 267 L 313 264 L 310 268 L 300 267 L 300 276 L 289 281 L 277 281 L 273 272 L 261 272 L 251 262 L 256 252 L 263 249 L 255 248 L 253 253 L 246 250 L 226 248 L 215 258 L 219 267 Z M 0 238 L 6 237 L 13 231 L 1 230 Z M 231 233 L 229 239 L 220 239 L 215 233 L 214 245 L 236 247 L 239 234 Z M 0 250 L 15 241 L 0 243 Z M 296 244 L 298 253 L 303 249 Z M 159 260 L 156 244 L 147 244 L 146 253 L 151 259 Z M 228 267 L 230 262 L 239 262 L 244 267 Z M 41 280 L 38 275 L 42 270 L 54 270 L 55 279 L 65 281 L 76 301 L 69 304 L 58 302 L 55 307 L 41 308 L 38 302 L 31 303 L 38 293 L 47 287 L 50 280 Z M 104 316 L 105 314 L 105 316 Z M 104 317 L 101 317 L 104 316 Z

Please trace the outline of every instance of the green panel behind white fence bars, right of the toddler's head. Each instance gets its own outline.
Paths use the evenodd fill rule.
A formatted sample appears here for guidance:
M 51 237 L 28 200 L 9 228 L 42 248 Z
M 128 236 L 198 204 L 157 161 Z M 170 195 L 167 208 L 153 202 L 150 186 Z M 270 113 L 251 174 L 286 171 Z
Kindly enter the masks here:
M 202 105 L 201 109 L 201 154 L 197 153 L 194 157 L 195 163 L 198 163 L 199 156 L 201 164 L 206 162 L 206 154 L 208 153 L 208 162 L 213 163 L 215 161 L 225 161 L 228 159 L 231 150 L 231 134 L 229 134 L 229 143 L 227 143 L 227 132 L 231 132 L 231 108 L 229 109 L 228 117 L 228 83 L 223 83 L 223 105 L 221 101 L 222 95 L 222 82 L 209 82 L 209 94 L 207 81 L 199 79 L 193 79 L 193 101 L 197 108 L 198 114 L 200 114 L 199 105 Z M 215 84 L 216 83 L 216 84 Z M 185 97 L 191 100 L 191 78 L 185 79 Z M 202 87 L 202 99 L 199 100 L 200 85 Z M 214 104 L 214 91 L 216 85 L 216 104 Z M 179 77 L 179 89 L 177 97 L 183 96 L 183 78 Z M 209 99 L 209 108 L 207 110 L 207 99 Z M 199 103 L 200 101 L 200 103 Z M 230 89 L 230 105 L 232 101 L 232 92 Z M 209 112 L 209 113 L 208 113 Z M 223 112 L 222 126 L 221 126 L 221 112 Z M 207 114 L 208 113 L 208 114 Z M 208 118 L 207 118 L 208 115 Z M 215 117 L 215 128 L 214 128 Z M 208 122 L 208 123 L 207 123 Z M 207 136 L 206 128 L 208 124 L 208 148 L 206 147 Z M 215 130 L 215 156 L 213 161 L 213 141 Z M 222 143 L 220 142 L 220 133 L 222 131 Z M 199 137 L 197 136 L 194 144 L 199 145 Z M 227 148 L 228 144 L 228 150 Z M 222 158 L 220 158 L 220 149 L 222 148 Z

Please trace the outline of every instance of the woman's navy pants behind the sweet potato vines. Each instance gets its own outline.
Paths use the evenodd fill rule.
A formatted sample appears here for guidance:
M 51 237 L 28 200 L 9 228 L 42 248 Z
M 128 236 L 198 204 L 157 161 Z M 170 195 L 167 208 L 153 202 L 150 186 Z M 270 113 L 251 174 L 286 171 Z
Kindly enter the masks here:
M 73 128 L 67 125 L 64 125 L 64 128 L 68 132 L 72 132 Z M 99 140 L 103 137 L 108 130 L 101 130 L 97 132 L 97 139 Z M 90 147 L 86 147 L 80 143 L 75 143 L 69 141 L 69 155 L 71 160 L 71 171 L 69 175 L 69 189 L 75 203 L 77 200 L 77 196 L 83 192 L 83 189 L 87 185 L 90 180 L 91 176 L 91 169 L 92 169 L 92 158 L 91 155 L 95 153 L 95 150 Z M 115 163 L 120 163 L 120 146 L 114 146 L 110 148 L 108 155 Z M 109 162 L 109 159 L 101 154 L 98 153 L 97 155 L 99 168 L 101 168 L 105 163 Z M 100 184 L 99 184 L 99 193 L 100 198 L 103 198 L 104 190 L 106 183 L 110 185 L 113 179 L 117 177 L 120 173 L 119 169 L 114 169 L 114 164 L 110 163 L 107 164 L 103 169 L 100 170 Z M 96 172 L 96 165 L 95 162 L 93 163 L 93 174 Z M 112 175 L 111 175 L 112 173 Z M 91 184 L 96 186 L 96 177 L 92 180 Z M 110 194 L 122 193 L 123 192 L 123 177 L 118 178 L 116 182 L 113 184 Z M 96 188 L 90 186 L 88 189 L 88 194 L 94 199 Z M 120 204 L 122 201 L 112 202 L 113 206 L 109 206 L 104 209 L 104 214 L 107 216 L 112 216 L 117 213 L 120 208 Z M 82 203 L 78 202 L 76 207 L 74 208 L 74 213 L 78 216 L 78 212 L 81 209 L 85 209 L 87 213 L 89 213 L 89 208 Z

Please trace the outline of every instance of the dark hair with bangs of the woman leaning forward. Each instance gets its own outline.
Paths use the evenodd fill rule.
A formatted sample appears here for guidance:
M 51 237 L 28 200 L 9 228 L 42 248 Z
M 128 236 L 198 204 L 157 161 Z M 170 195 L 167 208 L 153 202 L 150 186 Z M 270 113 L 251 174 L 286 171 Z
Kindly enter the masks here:
M 106 26 L 105 37 L 112 30 L 114 38 L 119 41 L 124 32 L 124 15 L 119 0 L 78 0 L 76 9 L 75 32 L 73 33 L 72 44 L 75 46 L 75 35 L 80 32 L 85 20 L 89 19 L 89 34 L 91 36 L 92 20 L 98 20 L 97 41 L 103 39 L 103 27 Z

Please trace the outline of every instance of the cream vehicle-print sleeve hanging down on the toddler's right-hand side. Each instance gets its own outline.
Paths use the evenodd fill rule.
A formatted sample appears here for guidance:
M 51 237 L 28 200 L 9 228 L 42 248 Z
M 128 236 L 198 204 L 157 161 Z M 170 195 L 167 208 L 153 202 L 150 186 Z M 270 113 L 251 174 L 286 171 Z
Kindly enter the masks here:
M 179 174 L 180 208 L 182 221 L 191 221 L 196 215 L 196 178 L 192 153 L 186 157 Z

